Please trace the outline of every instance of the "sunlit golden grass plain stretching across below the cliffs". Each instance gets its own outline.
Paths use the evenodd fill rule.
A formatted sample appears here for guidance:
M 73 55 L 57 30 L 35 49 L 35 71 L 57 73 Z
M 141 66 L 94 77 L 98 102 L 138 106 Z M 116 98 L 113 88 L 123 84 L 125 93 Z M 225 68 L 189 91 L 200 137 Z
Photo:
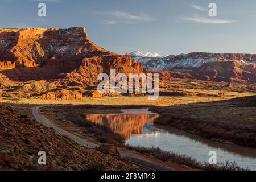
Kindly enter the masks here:
M 196 102 L 210 102 L 228 100 L 236 97 L 253 96 L 256 94 L 254 84 L 234 83 L 233 88 L 228 88 L 226 82 L 210 82 L 198 80 L 173 80 L 160 83 L 159 97 L 157 100 L 148 100 L 147 96 L 104 96 L 94 98 L 85 96 L 87 92 L 96 90 L 96 86 L 68 86 L 71 92 L 79 92 L 84 95 L 79 100 L 40 99 L 37 95 L 44 91 L 53 92 L 56 89 L 65 89 L 65 86 L 55 82 L 30 82 L 11 84 L 0 83 L 0 102 L 13 104 L 51 105 L 146 105 L 146 106 L 170 106 L 183 105 Z

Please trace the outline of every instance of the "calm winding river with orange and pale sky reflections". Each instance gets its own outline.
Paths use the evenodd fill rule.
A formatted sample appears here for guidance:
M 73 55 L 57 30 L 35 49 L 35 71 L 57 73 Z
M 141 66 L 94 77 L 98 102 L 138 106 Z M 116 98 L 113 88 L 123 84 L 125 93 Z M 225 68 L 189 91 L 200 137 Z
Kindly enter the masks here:
M 153 120 L 158 114 L 148 109 L 124 109 L 121 112 L 104 110 L 86 114 L 86 118 L 123 135 L 126 144 L 132 146 L 159 147 L 200 162 L 208 162 L 209 151 L 216 151 L 217 162 L 235 161 L 240 167 L 256 170 L 256 148 L 222 144 L 173 127 L 155 125 Z

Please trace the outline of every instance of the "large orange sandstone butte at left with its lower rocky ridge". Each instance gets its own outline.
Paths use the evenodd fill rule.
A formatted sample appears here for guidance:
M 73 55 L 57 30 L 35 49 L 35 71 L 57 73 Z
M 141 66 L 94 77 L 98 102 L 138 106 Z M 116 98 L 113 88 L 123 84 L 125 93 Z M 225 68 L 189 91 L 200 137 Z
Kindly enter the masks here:
M 116 73 L 143 72 L 143 65 L 130 55 L 90 41 L 85 28 L 0 29 L 1 79 L 97 82 L 98 74 L 110 68 Z

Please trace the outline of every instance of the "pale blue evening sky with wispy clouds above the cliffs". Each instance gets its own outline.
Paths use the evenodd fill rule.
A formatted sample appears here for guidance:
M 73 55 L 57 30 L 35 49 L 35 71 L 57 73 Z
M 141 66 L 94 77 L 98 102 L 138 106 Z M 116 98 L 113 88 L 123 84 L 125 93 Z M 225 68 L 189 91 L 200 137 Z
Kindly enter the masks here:
M 90 40 L 121 54 L 256 53 L 255 9 L 255 0 L 0 0 L 0 27 L 85 27 Z

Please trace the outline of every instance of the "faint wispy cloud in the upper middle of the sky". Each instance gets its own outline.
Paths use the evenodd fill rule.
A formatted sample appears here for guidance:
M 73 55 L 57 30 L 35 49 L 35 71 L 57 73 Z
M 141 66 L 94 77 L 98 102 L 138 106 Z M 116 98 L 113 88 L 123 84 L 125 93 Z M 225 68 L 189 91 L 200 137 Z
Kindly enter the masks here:
M 130 14 L 125 11 L 106 11 L 106 12 L 95 12 L 97 15 L 105 15 L 112 18 L 111 20 L 107 20 L 105 23 L 108 24 L 117 24 L 117 23 L 125 23 L 125 24 L 133 24 L 133 23 L 142 23 L 142 22 L 152 22 L 155 19 L 151 16 L 141 13 L 138 15 Z

